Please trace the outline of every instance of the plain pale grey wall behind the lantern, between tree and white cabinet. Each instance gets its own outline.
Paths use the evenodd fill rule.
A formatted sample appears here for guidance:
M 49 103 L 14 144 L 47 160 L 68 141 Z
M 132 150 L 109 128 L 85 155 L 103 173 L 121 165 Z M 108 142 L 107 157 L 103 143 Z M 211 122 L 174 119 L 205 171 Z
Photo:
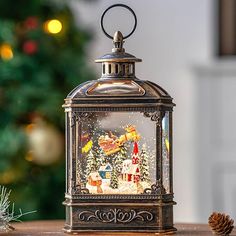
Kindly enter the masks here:
M 208 62 L 213 55 L 214 0 L 121 0 L 72 1 L 78 24 L 92 29 L 96 36 L 89 47 L 89 63 L 100 74 L 97 57 L 110 52 L 112 42 L 100 29 L 102 12 L 110 5 L 124 3 L 137 15 L 134 35 L 126 39 L 126 51 L 142 58 L 136 68 L 140 79 L 164 87 L 177 104 L 174 110 L 174 190 L 177 206 L 175 222 L 207 222 L 198 214 L 195 153 L 195 82 L 192 67 Z M 116 13 L 117 12 L 117 13 Z M 132 26 L 124 10 L 108 14 L 106 26 L 123 32 Z M 119 17 L 122 14 L 122 17 Z M 111 19 L 109 21 L 109 19 Z M 113 34 L 113 32 L 111 32 Z M 210 214 L 211 212 L 209 212 Z

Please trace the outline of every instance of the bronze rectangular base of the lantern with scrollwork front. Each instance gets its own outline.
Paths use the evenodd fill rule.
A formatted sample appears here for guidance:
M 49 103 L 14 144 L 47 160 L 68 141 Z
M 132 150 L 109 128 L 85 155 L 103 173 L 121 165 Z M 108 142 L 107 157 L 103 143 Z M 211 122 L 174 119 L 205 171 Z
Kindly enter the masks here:
M 153 232 L 171 234 L 173 205 L 169 202 L 79 202 L 66 199 L 66 233 Z

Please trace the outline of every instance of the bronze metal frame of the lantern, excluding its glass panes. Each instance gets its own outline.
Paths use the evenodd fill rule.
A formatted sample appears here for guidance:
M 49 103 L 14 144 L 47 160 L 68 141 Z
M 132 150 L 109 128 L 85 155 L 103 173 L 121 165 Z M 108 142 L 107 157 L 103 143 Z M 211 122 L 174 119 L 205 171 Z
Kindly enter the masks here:
M 76 87 L 65 99 L 66 115 L 66 222 L 64 231 L 125 231 L 170 233 L 173 226 L 172 110 L 170 95 L 150 81 L 135 76 L 135 62 L 125 53 L 123 35 L 115 33 L 112 53 L 96 60 L 102 63 L 102 77 Z M 138 93 L 120 94 L 114 82 L 137 85 Z M 106 84 L 104 94 L 96 91 Z M 111 88 L 111 90 L 109 89 Z M 90 194 L 81 183 L 77 165 L 81 153 L 81 125 L 88 117 L 102 112 L 140 112 L 156 127 L 156 182 L 143 194 Z M 162 119 L 169 112 L 169 191 L 163 186 Z

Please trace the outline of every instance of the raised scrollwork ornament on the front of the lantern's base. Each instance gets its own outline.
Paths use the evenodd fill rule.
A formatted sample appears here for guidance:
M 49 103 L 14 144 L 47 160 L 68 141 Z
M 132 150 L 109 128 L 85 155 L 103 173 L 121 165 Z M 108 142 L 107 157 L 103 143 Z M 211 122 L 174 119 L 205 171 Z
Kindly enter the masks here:
M 129 223 L 131 221 L 152 221 L 154 215 L 149 211 L 136 211 L 131 209 L 128 211 L 123 211 L 122 209 L 110 209 L 107 212 L 102 210 L 96 211 L 82 211 L 78 214 L 78 219 L 80 221 L 99 221 L 102 223 Z

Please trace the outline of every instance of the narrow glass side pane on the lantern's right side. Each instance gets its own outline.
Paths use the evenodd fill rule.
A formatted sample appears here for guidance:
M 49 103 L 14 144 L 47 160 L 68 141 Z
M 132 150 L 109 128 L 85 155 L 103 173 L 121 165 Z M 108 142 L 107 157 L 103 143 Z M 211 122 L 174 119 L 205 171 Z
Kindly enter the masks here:
M 169 112 L 165 112 L 162 119 L 162 168 L 163 168 L 163 186 L 167 193 L 170 193 L 170 130 L 169 130 Z

